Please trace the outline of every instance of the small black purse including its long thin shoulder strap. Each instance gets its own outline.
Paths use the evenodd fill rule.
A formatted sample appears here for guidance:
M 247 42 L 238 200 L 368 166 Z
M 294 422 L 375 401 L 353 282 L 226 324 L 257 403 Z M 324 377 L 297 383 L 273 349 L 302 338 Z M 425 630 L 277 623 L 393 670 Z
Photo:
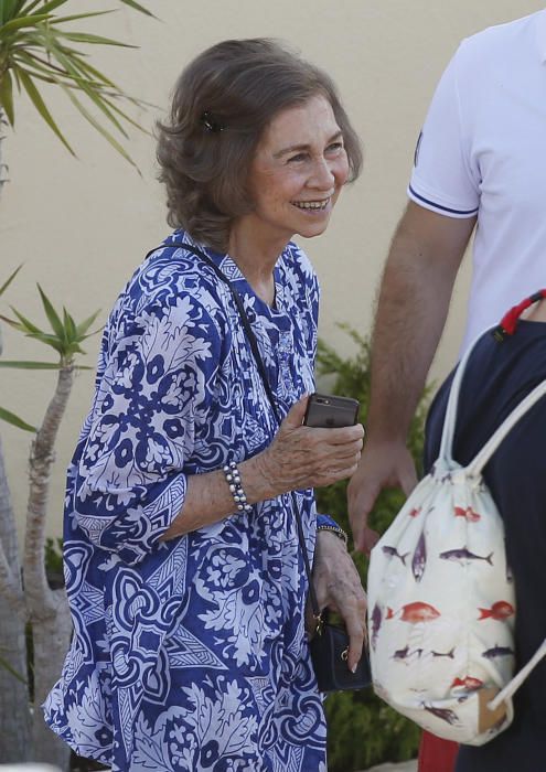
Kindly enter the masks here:
M 250 345 L 254 358 L 256 361 L 256 366 L 258 367 L 259 375 L 264 383 L 264 388 L 266 390 L 267 397 L 271 405 L 271 409 L 277 418 L 280 426 L 281 418 L 275 404 L 275 397 L 271 392 L 271 387 L 267 379 L 266 368 L 261 361 L 261 355 L 259 353 L 258 344 L 254 335 L 253 329 L 246 315 L 245 307 L 243 301 L 236 290 L 233 288 L 229 279 L 222 272 L 222 270 L 216 266 L 211 258 L 205 255 L 201 249 L 197 249 L 191 244 L 176 244 L 173 246 L 180 246 L 188 251 L 193 253 L 200 257 L 204 262 L 206 262 L 216 274 L 218 279 L 223 281 L 231 290 L 232 297 L 237 305 L 237 310 L 243 323 L 243 329 L 247 336 L 248 343 Z M 347 666 L 347 653 L 349 653 L 349 635 L 344 628 L 340 628 L 336 624 L 331 624 L 328 621 L 328 611 L 321 613 L 319 603 L 317 600 L 317 594 L 312 585 L 311 567 L 309 565 L 309 558 L 306 548 L 306 538 L 303 536 L 303 529 L 301 527 L 301 517 L 298 506 L 298 500 L 293 491 L 291 492 L 293 511 L 296 515 L 296 525 L 298 528 L 298 539 L 300 543 L 301 553 L 303 556 L 303 562 L 306 566 L 306 572 L 309 580 L 309 597 L 311 600 L 311 605 L 313 609 L 313 616 L 317 620 L 317 632 L 310 642 L 311 648 L 311 660 L 317 675 L 317 682 L 320 691 L 339 691 L 343 689 L 362 689 L 365 686 L 370 686 L 372 683 L 372 676 L 370 671 L 370 660 L 367 657 L 367 652 L 362 653 L 362 658 L 358 663 L 355 673 L 351 673 Z

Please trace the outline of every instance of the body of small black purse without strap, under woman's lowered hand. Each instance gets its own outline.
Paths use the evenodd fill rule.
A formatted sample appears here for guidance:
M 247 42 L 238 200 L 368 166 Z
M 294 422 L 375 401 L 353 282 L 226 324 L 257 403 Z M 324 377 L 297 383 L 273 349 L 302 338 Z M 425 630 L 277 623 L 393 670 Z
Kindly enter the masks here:
M 370 686 L 372 672 L 366 650 L 362 652 L 356 672 L 352 673 L 347 667 L 349 635 L 344 628 L 329 622 L 328 616 L 328 611 L 323 611 L 309 644 L 319 691 L 343 691 Z

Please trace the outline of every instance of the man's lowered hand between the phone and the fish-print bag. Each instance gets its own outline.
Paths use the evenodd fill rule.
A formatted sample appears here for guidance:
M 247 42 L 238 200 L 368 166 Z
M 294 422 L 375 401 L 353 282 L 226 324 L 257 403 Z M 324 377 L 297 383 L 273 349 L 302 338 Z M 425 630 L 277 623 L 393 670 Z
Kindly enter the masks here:
M 367 518 L 382 490 L 402 487 L 409 495 L 416 484 L 415 463 L 403 441 L 368 440 L 347 489 L 349 519 L 357 550 L 370 555 L 379 538 L 367 527 Z

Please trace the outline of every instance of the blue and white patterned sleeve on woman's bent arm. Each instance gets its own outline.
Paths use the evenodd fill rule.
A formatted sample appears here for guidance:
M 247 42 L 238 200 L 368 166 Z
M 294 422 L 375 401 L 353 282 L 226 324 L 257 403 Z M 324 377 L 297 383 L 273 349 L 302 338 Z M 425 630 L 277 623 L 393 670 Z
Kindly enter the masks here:
M 133 565 L 183 506 L 222 335 L 207 311 L 182 294 L 124 322 L 113 349 L 73 470 L 74 516 L 93 544 Z

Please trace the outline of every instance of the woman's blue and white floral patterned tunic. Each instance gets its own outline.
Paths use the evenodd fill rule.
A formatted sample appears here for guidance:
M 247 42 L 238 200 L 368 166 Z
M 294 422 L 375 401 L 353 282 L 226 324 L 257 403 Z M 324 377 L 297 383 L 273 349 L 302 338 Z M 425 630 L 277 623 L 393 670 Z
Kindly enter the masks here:
M 228 256 L 206 251 L 244 299 L 286 415 L 313 390 L 313 270 L 289 244 L 271 309 Z M 75 632 L 44 707 L 77 753 L 114 772 L 325 771 L 290 496 L 159 542 L 188 475 L 258 453 L 276 430 L 228 288 L 188 250 L 156 250 L 109 318 L 68 470 Z M 313 494 L 298 495 L 312 555 Z

